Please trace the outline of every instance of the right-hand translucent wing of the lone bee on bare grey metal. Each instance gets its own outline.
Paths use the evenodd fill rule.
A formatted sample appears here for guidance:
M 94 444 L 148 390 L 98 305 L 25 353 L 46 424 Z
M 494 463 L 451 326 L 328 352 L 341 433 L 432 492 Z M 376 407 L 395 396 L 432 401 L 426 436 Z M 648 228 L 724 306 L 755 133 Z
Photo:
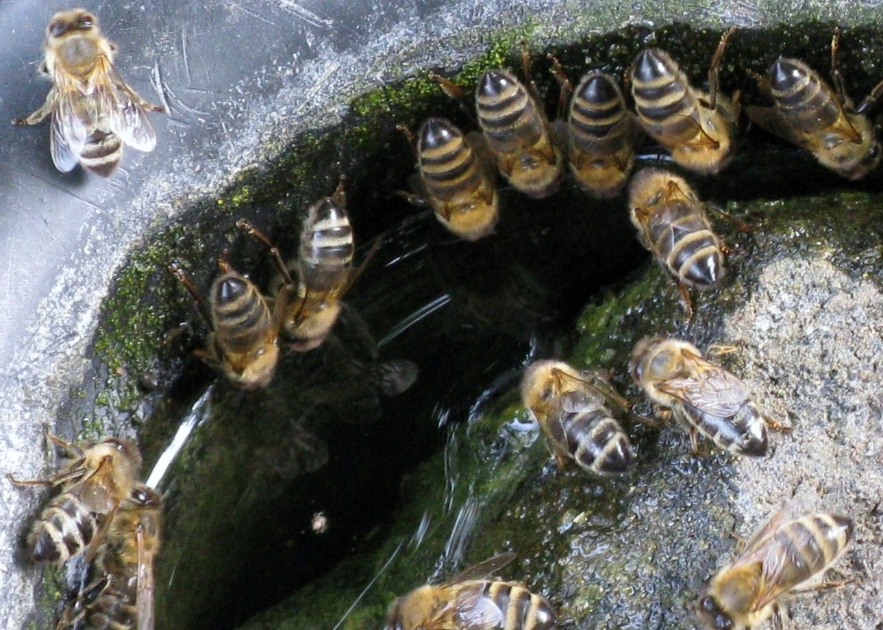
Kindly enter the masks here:
M 142 105 L 144 101 L 117 74 L 107 59 L 103 61 L 103 66 L 105 79 L 96 82 L 96 94 L 101 102 L 101 111 L 109 118 L 110 130 L 132 148 L 153 151 L 156 133 Z

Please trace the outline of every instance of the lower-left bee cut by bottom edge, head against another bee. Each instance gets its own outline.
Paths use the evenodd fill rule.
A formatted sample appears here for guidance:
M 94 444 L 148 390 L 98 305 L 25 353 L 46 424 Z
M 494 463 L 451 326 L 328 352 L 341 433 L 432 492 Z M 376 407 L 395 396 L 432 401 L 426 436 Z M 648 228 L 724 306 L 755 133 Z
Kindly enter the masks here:
M 137 484 L 119 507 L 94 567 L 100 574 L 69 606 L 58 628 L 154 627 L 154 559 L 160 548 L 162 498 Z

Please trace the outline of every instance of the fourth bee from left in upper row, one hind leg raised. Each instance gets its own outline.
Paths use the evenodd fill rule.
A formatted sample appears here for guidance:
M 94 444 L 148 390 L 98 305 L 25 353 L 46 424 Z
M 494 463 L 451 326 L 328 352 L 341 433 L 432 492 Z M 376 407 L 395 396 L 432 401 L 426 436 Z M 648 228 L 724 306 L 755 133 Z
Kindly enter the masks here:
M 709 92 L 691 86 L 668 53 L 645 49 L 631 66 L 631 95 L 644 131 L 671 153 L 684 169 L 719 173 L 733 156 L 738 99 L 718 89 L 718 68 L 731 28 L 721 37 L 708 71 Z

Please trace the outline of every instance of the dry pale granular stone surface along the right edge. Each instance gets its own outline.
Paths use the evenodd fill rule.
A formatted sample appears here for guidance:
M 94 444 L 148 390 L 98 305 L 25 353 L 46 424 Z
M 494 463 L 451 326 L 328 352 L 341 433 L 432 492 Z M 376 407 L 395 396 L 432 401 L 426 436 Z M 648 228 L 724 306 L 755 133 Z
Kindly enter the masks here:
M 883 627 L 883 299 L 820 259 L 779 259 L 725 326 L 742 340 L 733 370 L 766 413 L 793 425 L 773 434 L 772 455 L 736 467 L 743 539 L 796 491 L 814 490 L 816 509 L 849 516 L 856 535 L 829 579 L 843 589 L 789 599 L 792 627 Z M 721 558 L 720 565 L 729 558 Z

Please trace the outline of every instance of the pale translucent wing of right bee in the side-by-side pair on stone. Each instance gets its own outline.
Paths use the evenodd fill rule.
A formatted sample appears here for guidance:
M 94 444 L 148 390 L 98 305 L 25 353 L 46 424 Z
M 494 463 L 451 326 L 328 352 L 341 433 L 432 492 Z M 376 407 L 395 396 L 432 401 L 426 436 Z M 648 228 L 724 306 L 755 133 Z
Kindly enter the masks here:
M 735 416 L 748 393 L 742 380 L 720 365 L 708 363 L 698 356 L 688 356 L 693 364 L 693 378 L 662 381 L 661 392 L 675 396 L 707 414 L 719 417 Z

